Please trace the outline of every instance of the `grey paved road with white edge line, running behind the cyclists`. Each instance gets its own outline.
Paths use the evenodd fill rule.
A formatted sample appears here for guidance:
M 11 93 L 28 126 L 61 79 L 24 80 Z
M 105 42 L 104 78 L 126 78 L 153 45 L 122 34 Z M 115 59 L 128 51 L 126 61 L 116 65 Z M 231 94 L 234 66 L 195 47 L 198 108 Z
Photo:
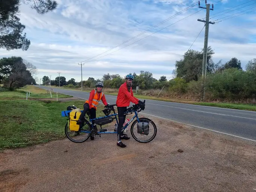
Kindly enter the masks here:
M 40 85 L 38 87 L 49 89 Z M 62 88 L 54 88 L 54 91 L 83 99 L 89 98 L 88 92 Z M 116 96 L 105 96 L 108 103 L 116 103 Z M 256 141 L 256 112 L 146 100 L 146 108 L 141 113 Z

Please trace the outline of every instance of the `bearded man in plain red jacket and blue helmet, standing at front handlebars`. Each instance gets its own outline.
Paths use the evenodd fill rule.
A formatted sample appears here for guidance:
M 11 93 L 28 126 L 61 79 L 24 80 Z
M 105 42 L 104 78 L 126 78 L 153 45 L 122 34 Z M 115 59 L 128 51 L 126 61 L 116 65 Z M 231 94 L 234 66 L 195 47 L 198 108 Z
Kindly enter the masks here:
M 126 147 L 126 145 L 124 143 L 122 143 L 121 139 L 129 139 L 130 137 L 127 137 L 126 135 L 124 135 L 124 137 L 121 137 L 121 130 L 122 130 L 122 126 L 125 122 L 125 118 L 126 115 L 124 115 L 125 110 L 127 110 L 127 107 L 129 107 L 130 102 L 134 103 L 134 104 L 138 104 L 141 109 L 144 110 L 144 105 L 141 104 L 141 101 L 138 100 L 137 98 L 135 98 L 133 96 L 133 92 L 132 92 L 132 80 L 134 79 L 134 77 L 130 74 L 128 74 L 125 77 L 126 81 L 124 84 L 122 84 L 119 88 L 118 91 L 118 96 L 116 99 L 116 106 L 118 108 L 118 142 L 117 145 L 120 147 Z

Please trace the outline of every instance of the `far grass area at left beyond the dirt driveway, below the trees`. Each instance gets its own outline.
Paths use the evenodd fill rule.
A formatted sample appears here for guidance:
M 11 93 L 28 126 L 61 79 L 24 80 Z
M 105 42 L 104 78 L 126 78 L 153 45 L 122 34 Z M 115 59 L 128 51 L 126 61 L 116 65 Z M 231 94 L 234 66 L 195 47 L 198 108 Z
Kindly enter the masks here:
M 27 92 L 30 91 L 29 98 L 51 98 L 50 92 L 47 92 L 45 89 L 38 88 L 33 85 L 27 85 L 17 91 L 4 91 L 0 92 L 0 98 L 26 98 Z M 58 93 L 58 98 L 67 98 L 73 97 L 70 95 L 60 94 Z M 52 92 L 52 98 L 57 98 L 57 94 Z

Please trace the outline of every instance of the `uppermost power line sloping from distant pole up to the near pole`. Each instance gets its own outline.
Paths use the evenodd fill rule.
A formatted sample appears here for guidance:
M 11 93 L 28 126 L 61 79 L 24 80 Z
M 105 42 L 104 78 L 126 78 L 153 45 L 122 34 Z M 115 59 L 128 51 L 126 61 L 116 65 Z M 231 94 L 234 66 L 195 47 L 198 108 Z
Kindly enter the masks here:
M 203 1 L 203 0 L 201 0 L 201 1 Z M 183 13 L 183 12 L 189 10 L 189 9 L 191 9 L 192 7 L 196 6 L 196 4 L 197 4 L 197 3 L 193 3 L 191 6 L 187 7 L 186 9 L 183 9 L 182 11 L 180 11 L 180 12 L 174 14 L 173 16 L 170 16 L 169 18 L 165 19 L 164 21 L 158 23 L 157 25 L 154 25 L 153 27 L 150 27 L 149 29 L 147 29 L 147 30 L 141 32 L 140 34 L 137 34 L 136 36 L 132 37 L 131 39 L 128 39 L 128 40 L 126 40 L 125 42 L 123 42 L 123 43 L 121 43 L 121 44 L 119 44 L 119 45 L 117 45 L 117 46 L 115 46 L 115 47 L 113 47 L 113 48 L 111 48 L 111 49 L 109 49 L 109 50 L 107 50 L 107 51 L 104 51 L 104 52 L 102 52 L 101 54 L 98 54 L 98 55 L 96 55 L 96 56 L 94 56 L 94 57 L 91 57 L 91 58 L 89 58 L 89 59 L 87 59 L 87 60 L 84 60 L 84 61 L 91 60 L 92 58 L 98 57 L 98 56 L 100 56 L 100 55 L 102 55 L 102 54 L 104 54 L 104 53 L 106 53 L 106 52 L 111 51 L 112 49 L 115 49 L 115 48 L 117 48 L 117 47 L 119 47 L 119 46 L 121 46 L 121 45 L 124 45 L 125 43 L 131 41 L 132 39 L 135 39 L 136 37 L 141 36 L 142 34 L 146 33 L 147 31 L 149 31 L 149 30 L 151 30 L 151 29 L 153 29 L 153 28 L 156 28 L 156 27 L 158 27 L 159 25 L 161 25 L 161 24 L 163 24 L 163 23 L 169 21 L 170 19 L 176 17 L 177 15 L 179 15 L 179 14 L 181 14 L 181 13 Z M 84 62 L 84 61 L 82 61 L 82 62 Z

